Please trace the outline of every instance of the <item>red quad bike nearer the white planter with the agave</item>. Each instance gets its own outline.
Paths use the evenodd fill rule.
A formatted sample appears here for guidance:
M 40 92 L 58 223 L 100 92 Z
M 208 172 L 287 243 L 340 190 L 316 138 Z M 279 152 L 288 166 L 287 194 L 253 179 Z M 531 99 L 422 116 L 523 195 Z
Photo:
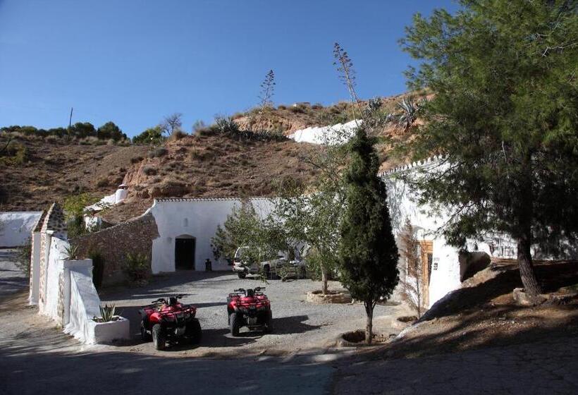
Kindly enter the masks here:
M 157 350 L 164 350 L 167 341 L 173 343 L 184 340 L 190 344 L 198 344 L 201 341 L 201 325 L 195 318 L 197 308 L 183 305 L 178 301 L 180 298 L 183 298 L 183 295 L 173 296 L 168 300 L 160 298 L 139 310 L 142 317 L 140 322 L 142 340 L 152 339 Z

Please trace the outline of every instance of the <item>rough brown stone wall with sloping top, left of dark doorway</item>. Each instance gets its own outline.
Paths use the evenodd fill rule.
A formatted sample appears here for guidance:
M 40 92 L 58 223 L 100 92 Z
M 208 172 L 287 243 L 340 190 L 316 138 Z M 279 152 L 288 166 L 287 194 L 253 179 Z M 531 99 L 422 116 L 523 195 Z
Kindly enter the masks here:
M 71 242 L 78 245 L 80 257 L 99 253 L 104 257 L 103 285 L 120 283 L 125 280 L 123 264 L 128 253 L 144 254 L 151 257 L 152 241 L 159 237 L 159 230 L 152 214 L 123 222 L 102 231 L 87 233 Z

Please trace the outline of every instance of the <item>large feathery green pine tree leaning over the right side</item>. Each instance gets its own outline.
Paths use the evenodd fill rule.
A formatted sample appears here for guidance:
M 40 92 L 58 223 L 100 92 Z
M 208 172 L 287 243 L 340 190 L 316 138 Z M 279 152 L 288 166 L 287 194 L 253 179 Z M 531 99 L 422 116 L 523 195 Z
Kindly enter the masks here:
M 401 41 L 422 61 L 407 71 L 410 88 L 433 92 L 411 149 L 444 155 L 414 186 L 421 202 L 450 209 L 443 233 L 454 245 L 509 233 L 536 296 L 531 246 L 578 231 L 578 2 L 460 4 L 417 14 Z

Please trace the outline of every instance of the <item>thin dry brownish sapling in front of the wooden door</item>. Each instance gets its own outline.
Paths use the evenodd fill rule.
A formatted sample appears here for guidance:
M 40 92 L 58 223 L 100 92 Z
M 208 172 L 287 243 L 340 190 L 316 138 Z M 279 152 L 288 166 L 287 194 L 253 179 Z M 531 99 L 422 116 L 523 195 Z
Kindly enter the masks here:
M 419 256 L 419 241 L 415 237 L 415 231 L 410 219 L 405 220 L 405 226 L 401 238 L 401 256 L 405 261 L 405 275 L 401 279 L 402 298 L 415 310 L 417 317 L 422 317 L 424 305 L 424 267 Z

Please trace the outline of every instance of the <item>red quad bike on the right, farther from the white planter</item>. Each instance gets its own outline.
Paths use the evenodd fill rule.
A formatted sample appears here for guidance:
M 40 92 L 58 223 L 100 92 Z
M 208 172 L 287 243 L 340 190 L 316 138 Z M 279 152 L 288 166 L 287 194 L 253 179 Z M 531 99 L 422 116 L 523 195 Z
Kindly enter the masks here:
M 273 331 L 273 313 L 271 303 L 262 292 L 264 287 L 254 289 L 235 289 L 227 297 L 230 334 L 239 336 L 241 327 L 258 329 L 266 333 Z

